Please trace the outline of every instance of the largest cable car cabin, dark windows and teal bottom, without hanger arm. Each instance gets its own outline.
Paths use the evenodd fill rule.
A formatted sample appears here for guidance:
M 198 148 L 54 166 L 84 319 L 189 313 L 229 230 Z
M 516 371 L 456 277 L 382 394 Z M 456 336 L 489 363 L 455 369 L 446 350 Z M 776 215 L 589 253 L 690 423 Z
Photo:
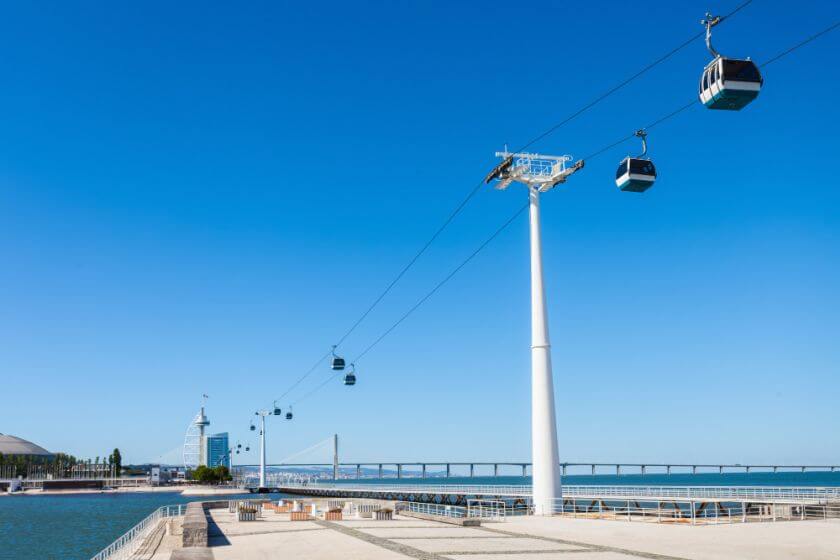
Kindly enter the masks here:
M 709 109 L 740 111 L 758 97 L 764 78 L 752 60 L 718 56 L 700 78 L 700 101 Z

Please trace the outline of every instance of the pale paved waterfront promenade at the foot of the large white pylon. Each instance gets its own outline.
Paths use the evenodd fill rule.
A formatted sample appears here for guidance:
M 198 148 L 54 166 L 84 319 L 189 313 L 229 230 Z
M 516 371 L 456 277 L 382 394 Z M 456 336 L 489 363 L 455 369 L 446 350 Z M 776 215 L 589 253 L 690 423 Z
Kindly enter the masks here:
M 208 520 L 204 557 L 218 560 L 820 560 L 840 551 L 837 519 L 699 527 L 527 516 L 461 527 L 399 515 L 292 522 L 288 514 L 268 513 L 238 522 L 227 509 L 211 509 Z M 177 543 L 162 536 L 142 557 L 169 560 Z

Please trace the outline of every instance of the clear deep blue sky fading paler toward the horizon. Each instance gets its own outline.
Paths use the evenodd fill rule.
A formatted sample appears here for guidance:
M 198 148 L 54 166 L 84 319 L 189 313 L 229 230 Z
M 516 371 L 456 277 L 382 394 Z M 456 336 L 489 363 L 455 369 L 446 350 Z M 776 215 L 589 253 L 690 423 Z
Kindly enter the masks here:
M 256 443 L 271 402 L 494 164 L 736 3 L 108 2 L 0 21 L 0 432 L 129 461 L 200 402 Z M 756 0 L 761 62 L 838 18 Z M 840 462 L 840 33 L 543 198 L 561 457 Z M 583 156 L 689 101 L 696 41 L 539 142 Z M 345 344 L 352 358 L 525 201 L 486 189 Z M 272 420 L 269 459 L 527 459 L 521 216 L 358 365 Z M 294 400 L 320 383 L 310 377 Z M 285 402 L 282 403 L 285 407 Z M 316 454 L 317 455 L 317 454 Z M 309 459 L 326 459 L 327 453 Z M 256 455 L 252 455 L 252 460 Z

